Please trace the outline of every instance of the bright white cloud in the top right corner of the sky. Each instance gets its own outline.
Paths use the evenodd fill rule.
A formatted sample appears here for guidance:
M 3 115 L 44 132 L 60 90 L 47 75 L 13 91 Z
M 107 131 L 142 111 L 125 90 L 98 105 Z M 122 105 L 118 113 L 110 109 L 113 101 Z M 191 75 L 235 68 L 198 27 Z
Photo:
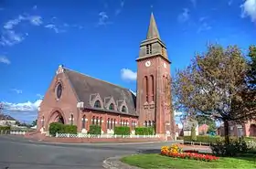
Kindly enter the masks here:
M 241 17 L 249 16 L 252 22 L 256 22 L 256 0 L 245 0 L 241 7 Z

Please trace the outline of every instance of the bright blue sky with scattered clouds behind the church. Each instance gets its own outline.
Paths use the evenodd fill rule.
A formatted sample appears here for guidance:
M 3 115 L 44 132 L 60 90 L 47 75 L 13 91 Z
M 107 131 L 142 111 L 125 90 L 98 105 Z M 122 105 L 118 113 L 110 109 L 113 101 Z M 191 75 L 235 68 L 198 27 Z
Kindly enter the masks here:
M 37 106 L 59 64 L 136 90 L 139 45 L 150 13 L 172 74 L 208 42 L 256 43 L 256 0 L 94 0 L 0 3 L 0 101 L 21 121 Z

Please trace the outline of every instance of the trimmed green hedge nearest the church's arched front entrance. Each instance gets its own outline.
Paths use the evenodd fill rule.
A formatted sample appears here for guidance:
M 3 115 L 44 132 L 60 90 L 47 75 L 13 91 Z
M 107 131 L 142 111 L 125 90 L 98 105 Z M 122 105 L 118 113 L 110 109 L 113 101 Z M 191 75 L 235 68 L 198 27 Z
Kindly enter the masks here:
M 52 122 L 49 124 L 48 132 L 52 136 L 56 136 L 56 133 L 74 133 L 78 132 L 76 125 L 62 124 L 59 122 Z

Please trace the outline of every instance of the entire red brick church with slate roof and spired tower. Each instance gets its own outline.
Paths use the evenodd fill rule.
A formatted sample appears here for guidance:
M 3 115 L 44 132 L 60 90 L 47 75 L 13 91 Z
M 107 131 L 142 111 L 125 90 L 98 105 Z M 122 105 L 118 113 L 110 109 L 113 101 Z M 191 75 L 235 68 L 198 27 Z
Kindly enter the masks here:
M 37 130 L 48 132 L 49 124 L 59 121 L 77 125 L 78 132 L 84 133 L 97 124 L 102 133 L 113 133 L 115 126 L 129 126 L 131 132 L 137 126 L 155 126 L 156 134 L 175 134 L 172 101 L 166 91 L 170 90 L 171 62 L 153 14 L 136 62 L 136 96 L 131 90 L 59 66 L 40 105 Z

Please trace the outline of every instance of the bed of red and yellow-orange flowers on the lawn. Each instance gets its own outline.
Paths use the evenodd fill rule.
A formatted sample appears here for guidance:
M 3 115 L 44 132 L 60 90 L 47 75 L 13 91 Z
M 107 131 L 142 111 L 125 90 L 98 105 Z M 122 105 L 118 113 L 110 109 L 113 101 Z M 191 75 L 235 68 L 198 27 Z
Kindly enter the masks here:
M 161 154 L 173 158 L 183 158 L 191 160 L 201 160 L 206 162 L 217 161 L 219 157 L 209 154 L 195 153 L 195 151 L 183 152 L 182 149 L 174 144 L 172 146 L 163 146 L 161 148 Z

